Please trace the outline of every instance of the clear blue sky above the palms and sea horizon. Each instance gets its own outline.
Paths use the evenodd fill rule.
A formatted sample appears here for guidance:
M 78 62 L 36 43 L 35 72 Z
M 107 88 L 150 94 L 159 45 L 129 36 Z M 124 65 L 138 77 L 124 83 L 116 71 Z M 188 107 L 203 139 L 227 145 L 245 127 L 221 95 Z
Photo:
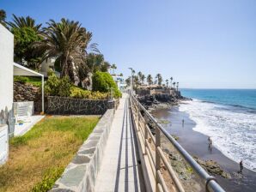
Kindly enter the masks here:
M 255 0 L 0 0 L 38 22 L 82 22 L 107 61 L 180 87 L 256 88 Z

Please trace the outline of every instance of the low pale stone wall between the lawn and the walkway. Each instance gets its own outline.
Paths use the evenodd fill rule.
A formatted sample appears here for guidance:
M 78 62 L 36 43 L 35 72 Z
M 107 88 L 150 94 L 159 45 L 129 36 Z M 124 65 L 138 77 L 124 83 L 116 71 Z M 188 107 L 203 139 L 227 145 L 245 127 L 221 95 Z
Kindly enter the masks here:
M 107 110 L 100 122 L 82 144 L 76 157 L 70 162 L 50 192 L 93 192 L 100 171 L 104 149 L 113 123 L 114 110 Z

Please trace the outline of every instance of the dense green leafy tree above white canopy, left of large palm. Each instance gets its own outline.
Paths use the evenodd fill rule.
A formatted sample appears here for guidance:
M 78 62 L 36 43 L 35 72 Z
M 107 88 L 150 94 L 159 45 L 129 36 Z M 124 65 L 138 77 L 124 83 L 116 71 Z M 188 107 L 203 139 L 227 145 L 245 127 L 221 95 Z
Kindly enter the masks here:
M 40 41 L 40 36 L 31 27 L 15 27 L 12 29 L 15 36 L 15 60 L 25 59 L 28 63 L 39 63 L 39 54 L 36 54 L 33 44 Z

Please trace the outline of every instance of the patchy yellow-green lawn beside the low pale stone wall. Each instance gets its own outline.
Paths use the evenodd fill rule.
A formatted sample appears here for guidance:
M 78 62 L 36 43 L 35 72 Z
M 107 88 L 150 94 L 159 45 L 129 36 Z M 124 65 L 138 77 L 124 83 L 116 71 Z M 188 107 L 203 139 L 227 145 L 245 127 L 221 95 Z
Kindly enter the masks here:
M 47 191 L 61 176 L 99 117 L 46 117 L 9 142 L 0 191 Z

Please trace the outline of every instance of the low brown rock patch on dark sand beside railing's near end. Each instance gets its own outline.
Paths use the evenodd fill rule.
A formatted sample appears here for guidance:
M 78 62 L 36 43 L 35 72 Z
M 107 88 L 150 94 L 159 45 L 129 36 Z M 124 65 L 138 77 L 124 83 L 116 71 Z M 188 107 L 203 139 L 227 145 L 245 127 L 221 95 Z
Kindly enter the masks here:
M 219 175 L 224 178 L 231 178 L 229 172 L 226 172 L 222 170 L 221 166 L 216 163 L 216 161 L 213 160 L 202 160 L 198 159 L 198 157 L 194 157 L 194 159 L 198 162 L 199 165 L 201 165 L 205 171 L 208 171 L 209 173 Z

